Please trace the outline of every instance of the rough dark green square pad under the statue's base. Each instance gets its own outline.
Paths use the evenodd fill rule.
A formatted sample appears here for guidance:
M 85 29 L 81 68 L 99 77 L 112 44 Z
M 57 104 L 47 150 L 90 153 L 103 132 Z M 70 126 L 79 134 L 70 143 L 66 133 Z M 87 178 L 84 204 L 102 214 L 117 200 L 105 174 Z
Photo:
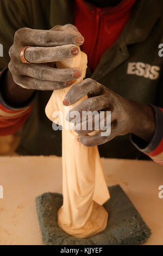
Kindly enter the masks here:
M 151 230 L 119 185 L 108 187 L 110 199 L 104 204 L 109 212 L 106 229 L 89 239 L 72 237 L 57 224 L 57 212 L 62 195 L 44 193 L 36 198 L 42 240 L 45 245 L 140 245 L 151 235 Z

